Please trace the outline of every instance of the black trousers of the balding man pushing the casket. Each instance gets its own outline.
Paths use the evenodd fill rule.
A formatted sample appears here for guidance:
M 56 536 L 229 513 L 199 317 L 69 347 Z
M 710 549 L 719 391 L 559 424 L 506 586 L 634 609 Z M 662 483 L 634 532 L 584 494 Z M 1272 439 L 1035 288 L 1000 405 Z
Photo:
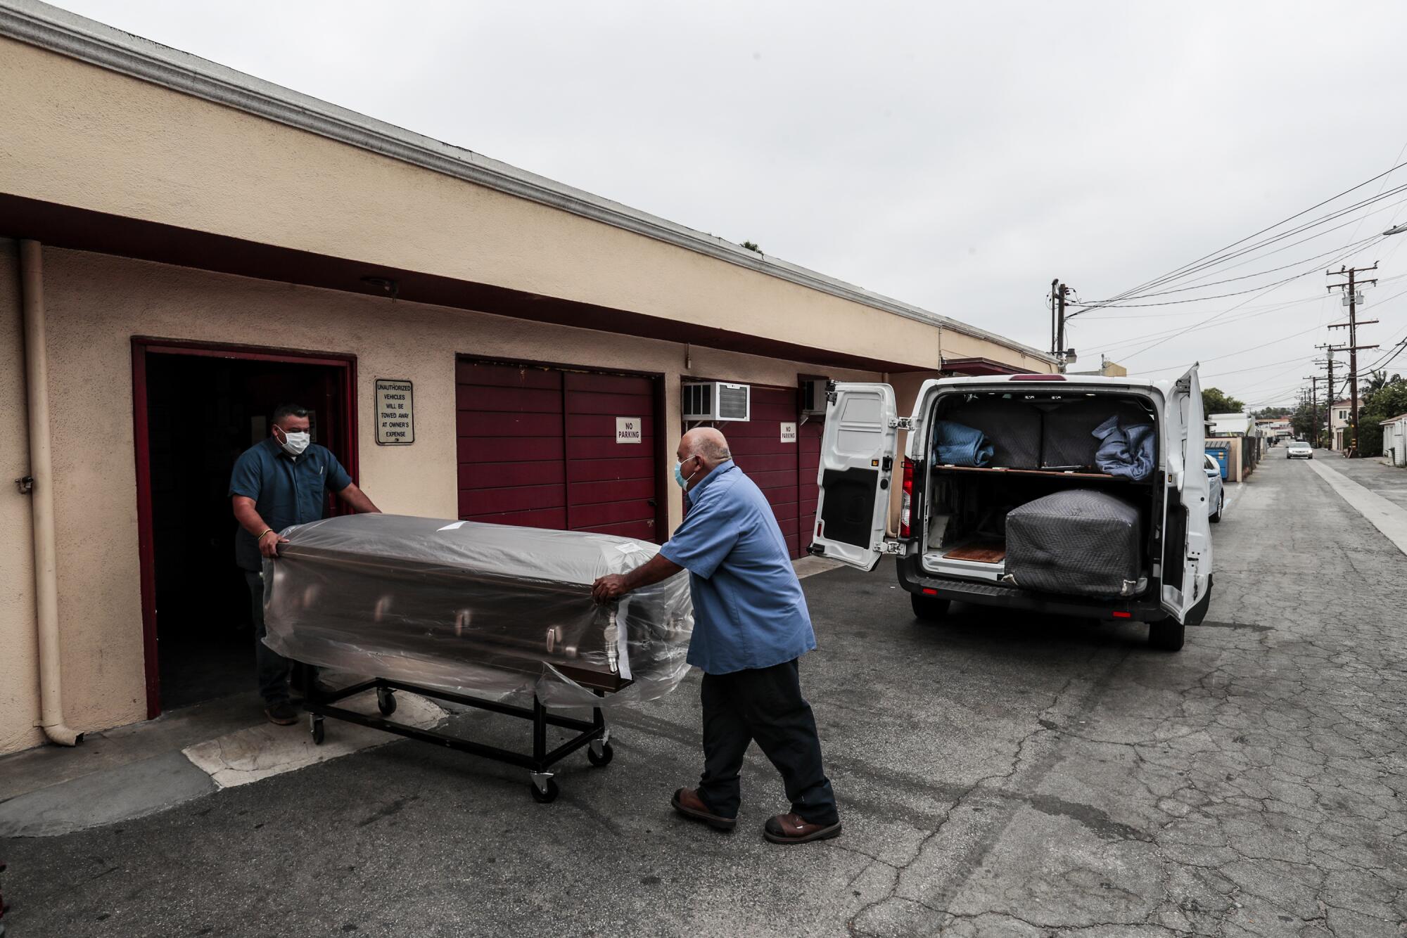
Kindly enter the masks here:
M 836 795 L 820 765 L 820 737 L 810 705 L 801 696 L 796 661 L 771 668 L 705 674 L 704 776 L 699 797 L 722 817 L 737 817 L 737 773 L 756 740 L 782 775 L 792 813 L 812 824 L 834 824 Z

